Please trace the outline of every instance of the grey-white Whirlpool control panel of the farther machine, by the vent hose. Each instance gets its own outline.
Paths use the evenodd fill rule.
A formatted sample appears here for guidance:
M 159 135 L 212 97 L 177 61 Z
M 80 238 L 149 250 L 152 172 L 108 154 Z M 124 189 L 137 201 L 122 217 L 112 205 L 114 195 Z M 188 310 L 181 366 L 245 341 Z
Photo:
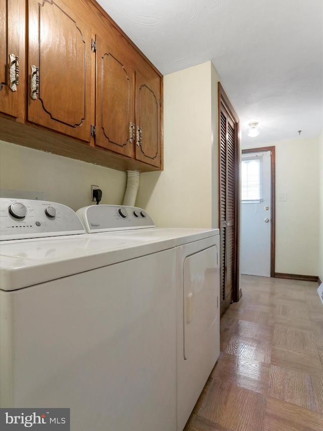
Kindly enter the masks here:
M 137 207 L 91 205 L 80 208 L 76 214 L 88 233 L 155 227 L 149 214 Z

